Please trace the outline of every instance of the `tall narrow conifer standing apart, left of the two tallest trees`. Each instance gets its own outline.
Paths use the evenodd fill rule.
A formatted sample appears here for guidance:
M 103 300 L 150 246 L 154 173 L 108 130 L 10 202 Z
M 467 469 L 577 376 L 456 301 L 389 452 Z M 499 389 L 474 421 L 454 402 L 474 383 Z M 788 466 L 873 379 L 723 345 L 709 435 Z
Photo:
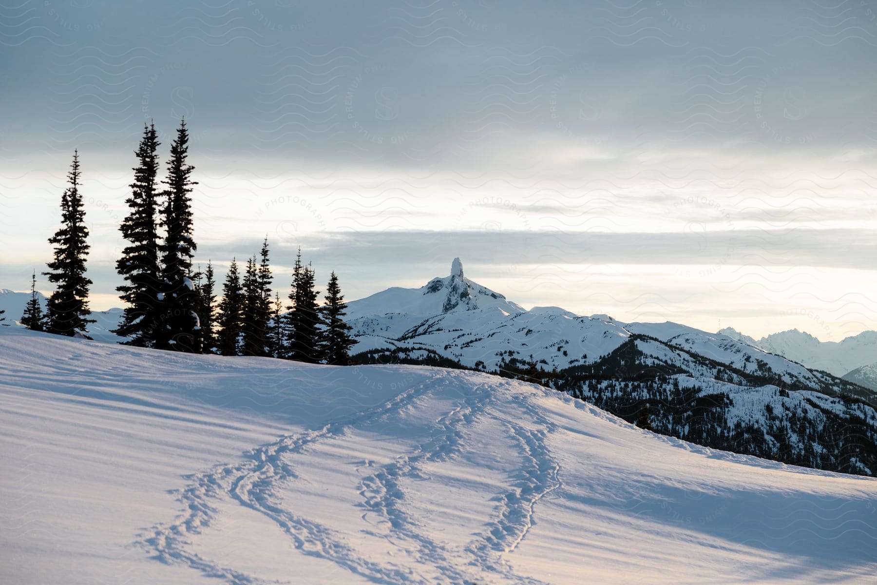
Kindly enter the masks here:
M 89 323 L 89 285 L 85 276 L 85 260 L 89 254 L 89 228 L 79 192 L 79 152 L 74 151 L 67 175 L 70 186 L 61 194 L 61 228 L 49 243 L 54 245 L 54 260 L 47 264 L 49 282 L 55 284 L 47 306 L 48 331 L 60 335 L 85 334 Z

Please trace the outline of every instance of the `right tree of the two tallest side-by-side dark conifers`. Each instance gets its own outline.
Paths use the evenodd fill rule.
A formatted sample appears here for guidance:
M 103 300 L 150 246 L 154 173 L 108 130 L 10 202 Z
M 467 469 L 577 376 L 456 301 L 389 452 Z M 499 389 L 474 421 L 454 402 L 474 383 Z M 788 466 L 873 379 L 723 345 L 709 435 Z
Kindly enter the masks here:
M 160 348 L 200 353 L 201 339 L 197 326 L 197 295 L 191 281 L 192 257 L 197 249 L 193 239 L 192 186 L 194 170 L 188 163 L 189 131 L 180 122 L 176 139 L 170 146 L 168 178 L 164 181 L 166 203 L 161 215 L 165 239 L 160 246 L 164 303 L 161 315 Z

